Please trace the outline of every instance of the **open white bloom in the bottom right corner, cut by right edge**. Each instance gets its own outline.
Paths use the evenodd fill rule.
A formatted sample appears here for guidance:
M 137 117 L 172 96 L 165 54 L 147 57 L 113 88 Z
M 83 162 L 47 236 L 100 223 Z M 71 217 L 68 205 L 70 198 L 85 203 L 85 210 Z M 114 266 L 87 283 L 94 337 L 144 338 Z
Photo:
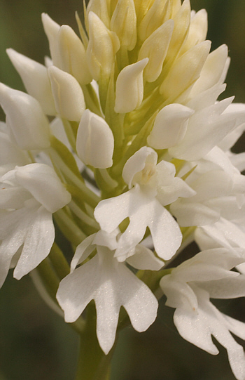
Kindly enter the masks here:
M 211 336 L 228 351 L 230 366 L 238 380 L 244 380 L 244 349 L 232 334 L 245 339 L 245 324 L 221 313 L 210 301 L 245 295 L 245 276 L 233 272 L 241 259 L 225 249 L 202 251 L 162 277 L 160 286 L 167 306 L 176 308 L 174 324 L 179 334 L 206 350 L 218 354 Z M 231 334 L 232 333 L 232 334 Z

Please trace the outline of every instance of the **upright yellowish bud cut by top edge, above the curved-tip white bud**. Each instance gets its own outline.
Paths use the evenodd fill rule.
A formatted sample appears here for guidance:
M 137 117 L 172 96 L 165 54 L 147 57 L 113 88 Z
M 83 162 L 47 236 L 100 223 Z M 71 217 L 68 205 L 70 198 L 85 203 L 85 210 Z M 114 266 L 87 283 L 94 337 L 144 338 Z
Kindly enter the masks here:
M 137 42 L 137 18 L 133 0 L 118 0 L 111 18 L 111 30 L 120 40 L 121 46 L 132 50 Z

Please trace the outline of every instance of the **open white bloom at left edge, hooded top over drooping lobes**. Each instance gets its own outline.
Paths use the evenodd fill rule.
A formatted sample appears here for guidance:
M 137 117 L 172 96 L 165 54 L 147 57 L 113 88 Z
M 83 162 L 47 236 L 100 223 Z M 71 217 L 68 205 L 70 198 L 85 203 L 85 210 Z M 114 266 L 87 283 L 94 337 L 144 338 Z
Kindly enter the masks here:
M 52 213 L 69 203 L 71 195 L 45 164 L 8 171 L 0 191 L 1 286 L 13 259 L 18 261 L 13 275 L 19 280 L 48 256 L 55 239 Z

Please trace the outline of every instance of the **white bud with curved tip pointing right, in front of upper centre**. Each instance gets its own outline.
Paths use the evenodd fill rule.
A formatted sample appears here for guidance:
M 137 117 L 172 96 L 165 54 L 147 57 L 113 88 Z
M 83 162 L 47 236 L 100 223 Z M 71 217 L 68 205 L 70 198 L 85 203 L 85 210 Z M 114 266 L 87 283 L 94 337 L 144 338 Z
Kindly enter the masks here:
M 116 81 L 115 112 L 124 114 L 141 105 L 144 96 L 143 70 L 148 60 L 144 58 L 128 65 L 119 73 Z

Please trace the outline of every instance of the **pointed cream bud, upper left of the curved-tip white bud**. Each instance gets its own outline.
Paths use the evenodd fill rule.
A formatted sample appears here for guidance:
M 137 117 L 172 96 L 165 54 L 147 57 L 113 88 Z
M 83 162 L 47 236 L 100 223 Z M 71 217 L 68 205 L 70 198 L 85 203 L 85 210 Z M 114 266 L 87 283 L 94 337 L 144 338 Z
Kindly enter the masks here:
M 100 75 L 109 78 L 116 52 L 120 48 L 120 41 L 116 33 L 108 30 L 95 13 L 90 11 L 88 21 L 90 36 L 87 46 L 88 67 L 96 81 Z

